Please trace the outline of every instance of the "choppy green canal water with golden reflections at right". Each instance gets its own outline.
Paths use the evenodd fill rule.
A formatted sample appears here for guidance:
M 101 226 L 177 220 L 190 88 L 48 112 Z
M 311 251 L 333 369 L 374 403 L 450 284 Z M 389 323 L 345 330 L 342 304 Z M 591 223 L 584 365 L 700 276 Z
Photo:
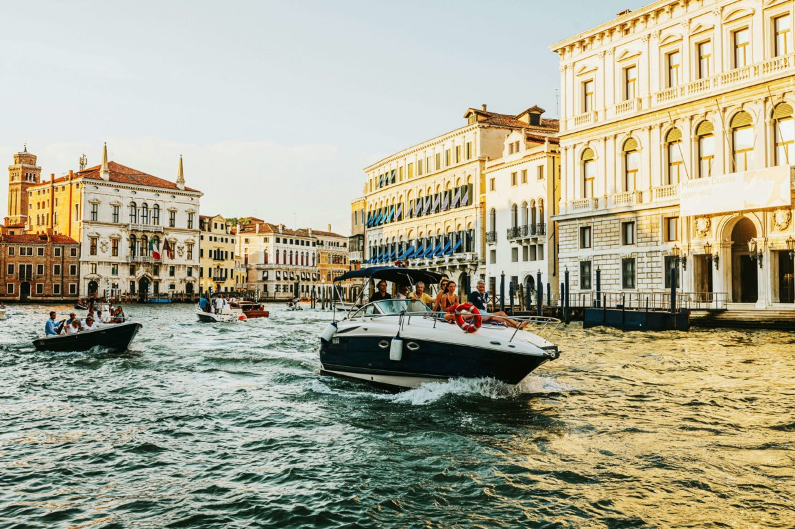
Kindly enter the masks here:
M 517 388 L 392 394 L 320 376 L 330 313 L 270 310 L 131 306 L 109 355 L 9 307 L 0 527 L 795 525 L 795 334 L 572 324 Z

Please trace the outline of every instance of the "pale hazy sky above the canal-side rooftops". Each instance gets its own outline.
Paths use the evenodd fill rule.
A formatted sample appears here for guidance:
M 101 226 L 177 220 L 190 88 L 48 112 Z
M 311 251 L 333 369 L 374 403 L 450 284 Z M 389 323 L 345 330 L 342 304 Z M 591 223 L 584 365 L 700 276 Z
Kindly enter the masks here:
M 556 117 L 549 45 L 646 3 L 6 2 L 0 160 L 60 176 L 107 141 L 175 180 L 182 154 L 202 214 L 348 234 L 366 165 L 469 106 Z

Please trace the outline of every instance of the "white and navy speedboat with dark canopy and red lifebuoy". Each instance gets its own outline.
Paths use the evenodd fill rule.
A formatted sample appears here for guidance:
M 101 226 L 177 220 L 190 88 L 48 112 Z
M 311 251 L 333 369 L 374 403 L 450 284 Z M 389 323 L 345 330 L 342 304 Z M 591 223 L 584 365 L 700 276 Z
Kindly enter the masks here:
M 362 278 L 411 286 L 418 281 L 438 284 L 441 276 L 417 269 L 375 267 L 347 272 L 335 281 Z M 560 320 L 514 319 L 528 320 L 545 336 L 526 330 L 531 325 L 518 330 L 487 318 L 482 321 L 476 310 L 461 315 L 456 324 L 415 300 L 366 303 L 347 311 L 321 334 L 320 370 L 392 388 L 415 388 L 455 377 L 491 377 L 518 384 L 559 356 L 549 338 Z

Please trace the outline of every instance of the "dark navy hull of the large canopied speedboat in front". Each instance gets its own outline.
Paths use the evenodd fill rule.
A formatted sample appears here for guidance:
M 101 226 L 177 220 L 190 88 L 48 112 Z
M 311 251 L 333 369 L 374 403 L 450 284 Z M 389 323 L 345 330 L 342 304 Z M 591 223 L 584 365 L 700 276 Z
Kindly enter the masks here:
M 343 335 L 332 338 L 332 342 L 321 341 L 321 369 L 336 376 L 399 388 L 415 388 L 425 381 L 456 377 L 488 377 L 518 384 L 552 357 L 404 336 L 401 360 L 395 361 L 390 360 L 390 347 L 384 347 L 391 339 L 389 335 L 355 338 Z

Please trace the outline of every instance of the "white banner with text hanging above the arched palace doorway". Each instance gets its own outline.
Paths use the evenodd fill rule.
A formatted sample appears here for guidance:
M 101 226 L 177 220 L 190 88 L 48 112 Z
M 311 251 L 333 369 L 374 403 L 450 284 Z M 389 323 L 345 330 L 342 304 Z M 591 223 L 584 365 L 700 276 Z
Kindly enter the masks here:
M 679 188 L 682 217 L 760 210 L 792 203 L 789 165 L 687 180 Z

